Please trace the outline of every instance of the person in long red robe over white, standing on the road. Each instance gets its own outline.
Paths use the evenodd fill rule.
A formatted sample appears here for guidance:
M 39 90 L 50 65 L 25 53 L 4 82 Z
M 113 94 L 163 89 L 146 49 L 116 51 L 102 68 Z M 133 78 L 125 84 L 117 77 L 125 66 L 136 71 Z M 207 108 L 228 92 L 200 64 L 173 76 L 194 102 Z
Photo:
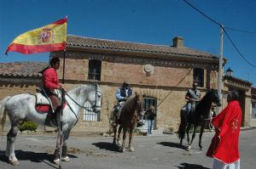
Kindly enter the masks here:
M 241 126 L 241 106 L 238 92 L 228 94 L 228 105 L 217 116 L 212 118 L 215 135 L 207 150 L 207 156 L 214 158 L 212 169 L 239 169 L 239 133 Z

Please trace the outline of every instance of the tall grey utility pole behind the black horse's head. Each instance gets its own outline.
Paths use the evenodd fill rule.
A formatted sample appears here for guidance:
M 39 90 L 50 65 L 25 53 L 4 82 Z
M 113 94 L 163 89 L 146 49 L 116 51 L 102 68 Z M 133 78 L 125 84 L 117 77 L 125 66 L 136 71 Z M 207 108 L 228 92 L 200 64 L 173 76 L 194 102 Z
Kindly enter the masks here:
M 218 107 L 218 113 L 222 110 L 222 73 L 223 73 L 223 25 L 220 25 L 220 41 L 219 41 L 219 60 L 218 60 L 218 97 L 221 106 Z

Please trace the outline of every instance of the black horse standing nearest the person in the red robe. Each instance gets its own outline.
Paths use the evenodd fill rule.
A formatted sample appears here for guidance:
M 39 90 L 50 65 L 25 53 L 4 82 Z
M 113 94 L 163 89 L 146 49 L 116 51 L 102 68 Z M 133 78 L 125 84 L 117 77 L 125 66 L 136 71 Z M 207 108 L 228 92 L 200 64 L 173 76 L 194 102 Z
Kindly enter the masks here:
M 206 93 L 201 101 L 195 106 L 195 110 L 191 114 L 188 114 L 186 110 L 183 109 L 180 111 L 181 122 L 178 127 L 178 138 L 180 138 L 181 145 L 183 144 L 185 132 L 187 132 L 188 149 L 191 149 L 191 144 L 195 138 L 196 128 L 200 126 L 201 129 L 199 135 L 199 147 L 200 149 L 202 149 L 201 137 L 206 127 L 206 123 L 204 120 L 209 118 L 212 103 L 217 104 L 218 106 L 221 105 L 218 98 L 218 91 L 214 89 L 211 89 Z M 194 125 L 194 132 L 192 135 L 192 139 L 189 142 L 189 130 L 192 124 Z

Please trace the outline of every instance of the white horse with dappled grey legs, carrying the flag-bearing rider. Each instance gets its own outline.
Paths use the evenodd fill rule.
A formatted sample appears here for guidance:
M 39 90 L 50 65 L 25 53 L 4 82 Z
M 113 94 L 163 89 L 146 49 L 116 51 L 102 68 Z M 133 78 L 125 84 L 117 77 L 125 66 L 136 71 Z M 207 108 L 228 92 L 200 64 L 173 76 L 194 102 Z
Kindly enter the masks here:
M 63 109 L 61 116 L 62 136 L 58 136 L 56 148 L 62 141 L 62 160 L 69 161 L 67 156 L 67 139 L 72 127 L 79 120 L 80 110 L 84 108 L 85 102 L 90 102 L 93 112 L 99 112 L 102 106 L 102 91 L 97 84 L 81 85 L 69 91 L 65 95 L 67 105 Z M 1 101 L 3 104 L 0 109 L 0 116 L 3 115 L 0 121 L 0 130 L 3 132 L 3 126 L 6 119 L 6 114 L 9 115 L 11 128 L 7 134 L 7 146 L 5 155 L 9 158 L 9 162 L 13 165 L 19 165 L 19 161 L 15 157 L 15 137 L 19 131 L 20 124 L 25 118 L 34 121 L 40 125 L 45 125 L 47 113 L 40 113 L 35 109 L 36 97 L 29 93 L 22 93 L 15 96 L 8 96 Z M 86 108 L 85 108 L 86 109 Z M 1 132 L 0 131 L 0 132 Z M 58 149 L 55 149 L 55 164 L 59 164 L 60 155 Z

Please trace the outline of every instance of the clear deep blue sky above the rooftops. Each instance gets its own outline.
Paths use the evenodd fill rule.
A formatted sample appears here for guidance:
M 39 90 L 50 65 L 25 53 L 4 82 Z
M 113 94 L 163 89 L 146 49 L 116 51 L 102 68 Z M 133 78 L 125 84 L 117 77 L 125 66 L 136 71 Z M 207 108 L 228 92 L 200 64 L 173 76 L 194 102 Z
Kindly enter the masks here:
M 188 1 L 226 27 L 256 32 L 254 0 Z M 183 0 L 0 0 L 0 62 L 48 61 L 49 53 L 4 53 L 21 33 L 66 15 L 68 34 L 168 46 L 179 36 L 188 48 L 219 54 L 219 26 Z M 241 54 L 256 65 L 256 33 L 226 31 Z M 224 70 L 230 67 L 233 76 L 256 86 L 256 68 L 237 54 L 226 36 L 224 57 L 228 59 Z

